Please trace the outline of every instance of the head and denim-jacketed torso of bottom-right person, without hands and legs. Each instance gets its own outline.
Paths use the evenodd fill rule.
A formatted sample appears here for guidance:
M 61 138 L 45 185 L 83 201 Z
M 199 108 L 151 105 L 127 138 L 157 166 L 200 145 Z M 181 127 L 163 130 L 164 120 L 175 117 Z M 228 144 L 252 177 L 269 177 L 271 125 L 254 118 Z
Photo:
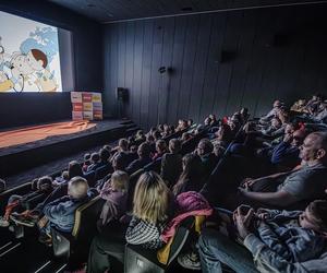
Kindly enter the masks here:
M 255 234 L 289 262 L 304 262 L 326 247 L 327 201 L 311 202 L 304 212 L 258 210 Z

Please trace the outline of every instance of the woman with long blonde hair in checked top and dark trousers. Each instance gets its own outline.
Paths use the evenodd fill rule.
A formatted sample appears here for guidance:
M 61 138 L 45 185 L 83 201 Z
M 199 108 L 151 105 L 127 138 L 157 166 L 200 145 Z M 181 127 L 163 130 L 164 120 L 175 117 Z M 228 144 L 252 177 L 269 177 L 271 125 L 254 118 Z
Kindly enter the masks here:
M 144 173 L 134 191 L 133 217 L 126 229 L 108 230 L 96 236 L 90 246 L 87 272 L 123 272 L 124 245 L 158 249 L 160 235 L 173 212 L 173 195 L 154 171 Z M 172 215 L 171 215 L 172 216 Z M 126 232 L 124 232 L 126 230 Z

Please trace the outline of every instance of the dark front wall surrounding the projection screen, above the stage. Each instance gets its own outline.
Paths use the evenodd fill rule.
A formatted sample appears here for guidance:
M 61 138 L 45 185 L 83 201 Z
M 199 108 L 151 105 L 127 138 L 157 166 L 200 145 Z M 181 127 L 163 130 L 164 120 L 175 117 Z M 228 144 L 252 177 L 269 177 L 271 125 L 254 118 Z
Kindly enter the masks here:
M 100 24 L 47 1 L 1 0 L 0 10 L 71 31 L 75 90 L 102 91 Z M 0 128 L 69 119 L 70 93 L 0 94 Z

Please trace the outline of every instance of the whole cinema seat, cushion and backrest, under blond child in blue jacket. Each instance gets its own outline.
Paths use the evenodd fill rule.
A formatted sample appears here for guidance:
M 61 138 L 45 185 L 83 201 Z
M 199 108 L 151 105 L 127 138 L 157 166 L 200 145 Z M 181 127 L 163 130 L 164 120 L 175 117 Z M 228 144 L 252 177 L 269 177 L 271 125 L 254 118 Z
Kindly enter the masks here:
M 71 234 L 51 227 L 52 247 L 56 257 L 69 258 L 76 250 L 89 249 L 90 240 L 97 232 L 97 221 L 105 200 L 99 195 L 81 205 L 75 212 L 75 223 Z

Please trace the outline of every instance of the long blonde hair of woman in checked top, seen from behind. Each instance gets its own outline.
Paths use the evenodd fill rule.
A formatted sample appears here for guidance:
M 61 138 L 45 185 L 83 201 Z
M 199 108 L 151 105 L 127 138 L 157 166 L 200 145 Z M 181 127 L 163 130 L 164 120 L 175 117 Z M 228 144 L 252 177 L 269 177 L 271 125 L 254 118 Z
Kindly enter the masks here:
M 133 214 L 153 224 L 167 221 L 170 194 L 170 190 L 158 174 L 144 173 L 135 187 Z

